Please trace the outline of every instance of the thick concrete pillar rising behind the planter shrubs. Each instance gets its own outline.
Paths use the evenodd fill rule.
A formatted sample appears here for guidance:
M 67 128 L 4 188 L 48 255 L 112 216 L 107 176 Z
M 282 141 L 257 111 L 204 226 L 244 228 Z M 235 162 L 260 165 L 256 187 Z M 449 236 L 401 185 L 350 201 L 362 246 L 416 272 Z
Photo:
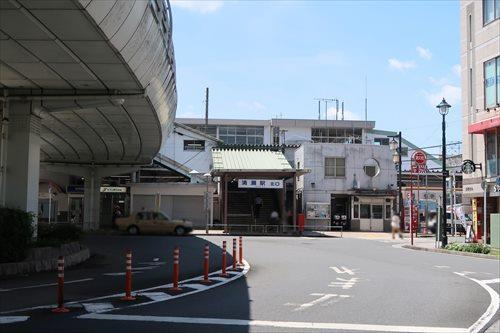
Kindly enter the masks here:
M 2 203 L 38 214 L 41 119 L 30 101 L 8 103 L 9 130 Z M 34 224 L 36 225 L 36 218 Z

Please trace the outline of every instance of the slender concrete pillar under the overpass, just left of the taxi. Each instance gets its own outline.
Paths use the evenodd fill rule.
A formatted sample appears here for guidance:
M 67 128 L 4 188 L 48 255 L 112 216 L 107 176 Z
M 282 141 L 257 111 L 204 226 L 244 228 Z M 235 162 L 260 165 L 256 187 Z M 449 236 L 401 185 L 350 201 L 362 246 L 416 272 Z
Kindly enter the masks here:
M 95 171 L 85 177 L 83 188 L 83 230 L 99 229 L 101 211 L 101 177 Z

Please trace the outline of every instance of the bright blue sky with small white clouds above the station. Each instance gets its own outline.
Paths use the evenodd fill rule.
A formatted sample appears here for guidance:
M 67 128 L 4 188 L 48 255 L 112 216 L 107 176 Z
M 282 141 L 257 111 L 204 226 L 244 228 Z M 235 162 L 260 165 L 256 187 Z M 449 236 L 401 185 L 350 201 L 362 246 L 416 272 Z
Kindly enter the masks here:
M 461 141 L 458 1 L 171 3 L 177 117 L 204 117 L 206 87 L 210 118 L 317 119 L 315 98 L 336 98 L 364 119 L 366 95 L 377 129 L 427 147 L 444 97 L 447 141 Z

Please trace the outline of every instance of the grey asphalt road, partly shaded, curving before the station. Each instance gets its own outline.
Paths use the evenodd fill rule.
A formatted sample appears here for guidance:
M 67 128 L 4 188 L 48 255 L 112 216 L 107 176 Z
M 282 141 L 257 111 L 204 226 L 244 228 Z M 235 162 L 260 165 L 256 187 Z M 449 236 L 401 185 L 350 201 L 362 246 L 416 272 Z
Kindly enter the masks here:
M 127 237 L 112 241 L 121 243 L 122 239 L 129 242 Z M 222 239 L 230 238 L 207 238 L 217 244 Z M 120 246 L 111 245 L 109 239 L 96 241 L 105 241 L 106 246 L 121 252 Z M 141 260 L 151 259 L 171 246 L 166 242 L 170 244 L 171 240 L 150 236 L 133 239 L 134 248 L 145 253 Z M 182 248 L 194 251 L 206 240 L 186 237 L 182 242 Z M 349 238 L 245 237 L 245 258 L 251 268 L 245 277 L 223 286 L 90 315 L 82 309 L 63 315 L 47 309 L 14 313 L 11 315 L 30 317 L 24 322 L 2 325 L 0 329 L 8 328 L 8 332 L 35 332 L 40 327 L 64 332 L 116 329 L 122 332 L 465 332 L 491 306 L 491 295 L 471 279 L 487 281 L 498 297 L 498 260 L 413 251 L 395 244 Z M 199 272 L 193 269 L 191 273 L 194 276 Z M 154 285 L 160 282 L 160 275 L 165 275 L 154 274 L 158 276 L 138 283 L 144 283 L 142 287 Z M 89 282 L 89 288 L 94 283 L 94 280 Z M 79 294 L 84 296 L 85 292 Z M 6 301 L 6 295 L 9 292 L 0 293 L 2 303 L 17 308 L 18 300 L 9 295 Z

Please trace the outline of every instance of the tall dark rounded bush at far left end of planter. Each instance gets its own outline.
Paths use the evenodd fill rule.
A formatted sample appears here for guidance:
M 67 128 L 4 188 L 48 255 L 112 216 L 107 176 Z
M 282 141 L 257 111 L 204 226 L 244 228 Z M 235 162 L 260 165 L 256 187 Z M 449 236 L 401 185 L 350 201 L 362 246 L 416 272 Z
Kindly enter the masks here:
M 22 261 L 33 237 L 32 213 L 0 207 L 0 262 Z

